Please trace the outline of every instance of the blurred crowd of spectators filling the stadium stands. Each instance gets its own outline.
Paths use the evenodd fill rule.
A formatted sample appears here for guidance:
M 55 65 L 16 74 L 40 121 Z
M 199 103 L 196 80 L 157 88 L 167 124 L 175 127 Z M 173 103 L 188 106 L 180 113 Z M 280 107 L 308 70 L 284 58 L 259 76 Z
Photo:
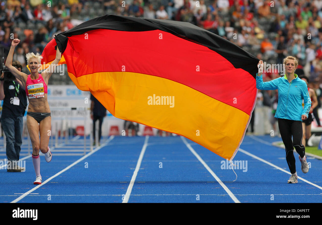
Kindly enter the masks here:
M 309 78 L 308 86 L 316 91 L 321 105 L 322 0 L 0 0 L 0 47 L 6 58 L 12 40 L 21 39 L 14 61 L 28 73 L 26 53 L 42 53 L 55 34 L 106 14 L 189 22 L 267 64 L 282 64 L 286 56 L 296 56 L 296 73 Z M 264 70 L 263 80 L 275 79 L 280 73 L 276 67 Z M 276 91 L 259 91 L 256 107 L 265 107 L 265 115 L 274 115 L 276 103 Z

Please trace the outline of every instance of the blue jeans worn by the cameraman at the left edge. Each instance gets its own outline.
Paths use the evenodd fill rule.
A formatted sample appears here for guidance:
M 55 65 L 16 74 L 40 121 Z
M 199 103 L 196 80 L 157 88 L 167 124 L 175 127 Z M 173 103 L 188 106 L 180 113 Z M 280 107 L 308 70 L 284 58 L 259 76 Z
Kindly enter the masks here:
M 18 161 L 22 144 L 23 117 L 1 118 L 3 132 L 6 137 L 6 154 L 8 161 Z

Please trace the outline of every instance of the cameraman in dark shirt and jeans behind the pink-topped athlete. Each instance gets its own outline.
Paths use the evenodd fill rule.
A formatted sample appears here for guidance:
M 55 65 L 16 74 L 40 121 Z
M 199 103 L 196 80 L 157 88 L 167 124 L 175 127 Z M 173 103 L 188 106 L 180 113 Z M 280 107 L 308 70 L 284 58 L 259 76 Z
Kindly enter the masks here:
M 21 72 L 22 65 L 18 61 L 12 65 Z M 2 73 L 0 80 L 0 100 L 3 100 L 0 121 L 6 136 L 7 172 L 25 171 L 25 168 L 18 166 L 18 161 L 22 144 L 23 116 L 27 107 L 26 93 L 22 83 L 9 71 Z

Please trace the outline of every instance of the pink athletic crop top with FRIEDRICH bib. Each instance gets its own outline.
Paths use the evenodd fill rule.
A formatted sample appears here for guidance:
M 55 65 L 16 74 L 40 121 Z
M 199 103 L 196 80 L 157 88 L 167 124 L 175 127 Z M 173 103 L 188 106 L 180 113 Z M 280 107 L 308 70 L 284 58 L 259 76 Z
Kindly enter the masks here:
M 45 97 L 47 94 L 47 85 L 43 80 L 43 77 L 40 73 L 38 79 L 32 80 L 30 78 L 30 74 L 28 75 L 27 82 L 26 82 L 26 94 L 28 98 L 41 98 Z

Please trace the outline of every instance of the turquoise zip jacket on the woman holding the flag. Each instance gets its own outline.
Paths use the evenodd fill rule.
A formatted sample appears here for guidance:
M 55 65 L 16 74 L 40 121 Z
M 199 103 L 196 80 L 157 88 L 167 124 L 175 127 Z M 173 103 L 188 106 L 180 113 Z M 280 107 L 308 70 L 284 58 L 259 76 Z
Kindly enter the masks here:
M 258 73 L 257 73 L 258 74 Z M 278 90 L 279 102 L 275 116 L 276 118 L 302 121 L 302 115 L 308 117 L 311 108 L 311 99 L 308 94 L 308 86 L 305 81 L 298 78 L 294 73 L 295 79 L 290 83 L 286 74 L 269 82 L 263 82 L 262 75 L 256 74 L 256 88 L 259 90 Z M 304 108 L 302 106 L 304 99 Z

